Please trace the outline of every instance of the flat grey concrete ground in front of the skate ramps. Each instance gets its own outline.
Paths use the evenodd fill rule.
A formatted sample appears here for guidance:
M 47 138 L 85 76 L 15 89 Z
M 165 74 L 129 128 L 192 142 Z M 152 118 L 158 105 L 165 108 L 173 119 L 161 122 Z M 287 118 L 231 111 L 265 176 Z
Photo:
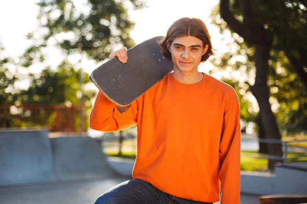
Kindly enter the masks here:
M 0 203 L 93 204 L 103 192 L 124 181 L 125 179 L 104 179 L 100 181 L 0 188 Z M 258 204 L 258 196 L 241 195 L 240 203 Z

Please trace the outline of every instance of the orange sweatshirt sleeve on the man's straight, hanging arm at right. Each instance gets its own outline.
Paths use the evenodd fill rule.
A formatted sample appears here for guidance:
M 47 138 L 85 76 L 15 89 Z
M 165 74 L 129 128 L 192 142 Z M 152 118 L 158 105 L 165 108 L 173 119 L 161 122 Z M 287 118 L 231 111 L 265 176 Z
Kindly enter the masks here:
M 237 97 L 228 101 L 220 142 L 221 204 L 240 203 L 240 105 Z

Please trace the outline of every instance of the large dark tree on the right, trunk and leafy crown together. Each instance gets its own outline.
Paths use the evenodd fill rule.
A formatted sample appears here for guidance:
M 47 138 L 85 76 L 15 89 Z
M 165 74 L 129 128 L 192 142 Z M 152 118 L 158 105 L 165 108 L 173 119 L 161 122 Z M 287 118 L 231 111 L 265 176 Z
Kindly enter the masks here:
M 245 91 L 250 91 L 258 102 L 261 124 L 259 126 L 263 127 L 265 138 L 281 138 L 273 111 L 276 115 L 278 110 L 289 108 L 289 101 L 291 106 L 296 104 L 294 107 L 305 110 L 303 109 L 305 100 L 294 101 L 295 94 L 303 98 L 306 90 L 306 84 L 302 83 L 305 82 L 307 65 L 305 63 L 307 47 L 303 43 L 306 40 L 307 13 L 304 3 L 303 1 L 221 0 L 220 15 L 224 20 L 220 20 L 217 10 L 212 14 L 212 21 L 220 27 L 222 33 L 225 30 L 231 31 L 234 39 L 232 46 L 237 47 L 234 52 L 225 54 L 221 62 L 216 64 L 222 68 L 241 70 L 246 79 L 252 79 L 246 80 L 248 87 L 242 83 L 241 87 L 246 87 Z M 247 61 L 239 60 L 242 57 L 247 58 Z M 254 85 L 250 85 L 252 84 L 250 82 Z M 289 89 L 291 92 L 286 93 Z M 284 98 L 286 100 L 282 102 L 280 92 L 283 91 L 286 93 Z M 293 111 L 296 110 L 290 112 Z M 293 114 L 293 118 L 294 115 L 296 118 L 297 115 L 305 117 L 304 114 Z M 281 118 L 280 115 L 279 117 L 277 115 L 277 118 Z M 282 155 L 281 145 L 267 146 L 270 155 Z M 274 169 L 274 163 L 274 160 L 270 160 L 270 169 Z

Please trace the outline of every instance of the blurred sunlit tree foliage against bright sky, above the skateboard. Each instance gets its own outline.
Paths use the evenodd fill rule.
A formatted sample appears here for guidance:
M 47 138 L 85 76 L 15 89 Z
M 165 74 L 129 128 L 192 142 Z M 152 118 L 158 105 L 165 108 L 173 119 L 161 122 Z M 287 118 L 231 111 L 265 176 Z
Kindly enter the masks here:
M 44 61 L 42 48 L 51 41 L 64 55 L 85 54 L 97 62 L 106 59 L 116 45 L 134 46 L 129 33 L 135 23 L 129 19 L 127 8 L 144 7 L 140 0 L 89 0 L 82 5 L 71 0 L 42 0 L 37 5 L 39 29 L 28 35 L 33 45 L 23 56 L 25 67 Z

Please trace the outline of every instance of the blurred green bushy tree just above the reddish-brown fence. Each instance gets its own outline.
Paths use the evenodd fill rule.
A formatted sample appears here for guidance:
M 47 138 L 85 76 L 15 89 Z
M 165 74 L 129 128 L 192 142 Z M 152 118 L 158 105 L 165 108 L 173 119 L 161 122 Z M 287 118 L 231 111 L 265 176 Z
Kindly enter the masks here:
M 80 71 L 81 69 L 74 69 L 68 61 L 63 61 L 55 71 L 47 67 L 41 71 L 38 78 L 32 74 L 29 89 L 21 91 L 17 100 L 21 104 L 77 104 L 82 97 L 82 102 L 85 103 L 94 97 L 95 92 L 85 90 L 82 95 Z M 88 73 L 83 73 L 82 78 L 84 84 L 90 83 Z

